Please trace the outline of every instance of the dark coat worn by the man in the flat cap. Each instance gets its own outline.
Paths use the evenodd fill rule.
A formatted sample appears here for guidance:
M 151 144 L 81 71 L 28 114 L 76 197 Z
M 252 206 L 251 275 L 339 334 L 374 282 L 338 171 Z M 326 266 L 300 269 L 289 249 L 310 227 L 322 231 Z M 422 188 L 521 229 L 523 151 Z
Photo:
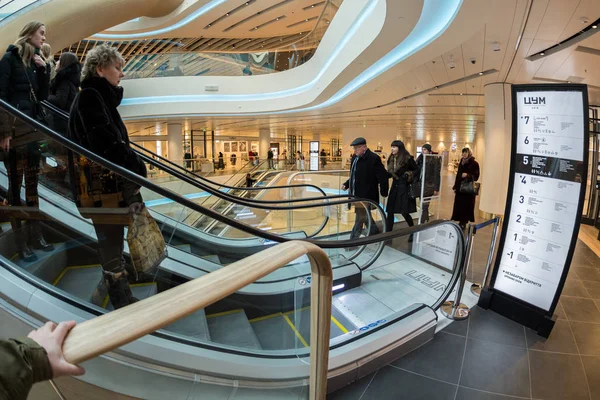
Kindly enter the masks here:
M 353 156 L 350 163 L 350 179 L 344 182 L 350 194 L 379 203 L 379 194 L 386 197 L 389 192 L 388 174 L 381 158 L 367 149 L 360 157 Z

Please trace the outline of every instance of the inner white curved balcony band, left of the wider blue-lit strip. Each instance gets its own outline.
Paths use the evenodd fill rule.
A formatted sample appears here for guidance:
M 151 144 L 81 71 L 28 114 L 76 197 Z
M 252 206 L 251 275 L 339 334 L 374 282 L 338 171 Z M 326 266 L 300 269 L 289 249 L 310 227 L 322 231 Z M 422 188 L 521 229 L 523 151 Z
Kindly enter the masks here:
M 375 40 L 383 28 L 385 12 L 384 0 L 346 0 L 337 13 L 339 18 L 334 18 L 315 55 L 304 65 L 249 77 L 125 80 L 122 84 L 126 98 L 122 106 L 160 105 L 162 108 L 177 103 L 185 107 L 185 104 L 202 102 L 203 107 L 217 107 L 212 110 L 214 112 L 225 111 L 222 107 L 229 107 L 229 112 L 237 112 L 240 107 L 245 112 L 256 112 L 309 104 Z M 197 94 L 204 93 L 206 85 L 216 85 L 226 94 Z M 221 104 L 215 105 L 215 102 Z M 182 110 L 175 111 L 178 112 Z

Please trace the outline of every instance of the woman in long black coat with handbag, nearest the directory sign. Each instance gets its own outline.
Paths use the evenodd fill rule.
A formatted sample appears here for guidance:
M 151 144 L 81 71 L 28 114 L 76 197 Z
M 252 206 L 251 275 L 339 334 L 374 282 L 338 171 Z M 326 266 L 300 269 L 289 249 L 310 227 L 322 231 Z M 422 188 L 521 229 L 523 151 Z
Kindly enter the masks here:
M 467 223 L 475 222 L 475 182 L 478 179 L 479 163 L 475 161 L 471 149 L 465 147 L 462 150 L 462 159 L 458 164 L 456 180 L 452 187 L 456 193 L 452 220 L 458 221 L 463 230 L 467 228 Z

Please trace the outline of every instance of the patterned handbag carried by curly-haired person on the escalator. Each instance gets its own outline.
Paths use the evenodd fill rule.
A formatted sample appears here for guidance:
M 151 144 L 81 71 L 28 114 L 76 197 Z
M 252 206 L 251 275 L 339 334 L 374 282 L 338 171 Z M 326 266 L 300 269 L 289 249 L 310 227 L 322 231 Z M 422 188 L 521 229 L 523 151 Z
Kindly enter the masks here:
M 167 257 L 165 239 L 146 207 L 133 216 L 127 231 L 127 244 L 137 272 L 149 273 Z

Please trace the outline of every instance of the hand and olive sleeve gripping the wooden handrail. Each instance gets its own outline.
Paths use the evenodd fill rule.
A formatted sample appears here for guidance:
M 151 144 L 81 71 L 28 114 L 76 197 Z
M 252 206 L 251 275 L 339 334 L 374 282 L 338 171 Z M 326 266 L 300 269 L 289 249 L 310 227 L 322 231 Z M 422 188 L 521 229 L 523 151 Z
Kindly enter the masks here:
M 33 384 L 84 369 L 68 363 L 62 345 L 75 321 L 48 322 L 20 339 L 0 340 L 0 398 L 26 399 Z

